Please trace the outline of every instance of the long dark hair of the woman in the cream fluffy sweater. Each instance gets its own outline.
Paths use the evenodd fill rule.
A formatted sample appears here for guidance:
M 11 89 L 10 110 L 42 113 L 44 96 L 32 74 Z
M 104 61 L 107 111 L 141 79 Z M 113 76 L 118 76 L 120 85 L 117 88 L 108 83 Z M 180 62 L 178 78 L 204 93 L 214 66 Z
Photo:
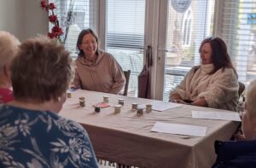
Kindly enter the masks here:
M 205 43 L 210 43 L 211 48 L 212 48 L 212 64 L 214 66 L 213 71 L 211 72 L 217 72 L 218 69 L 220 68 L 232 68 L 234 72 L 236 73 L 236 69 L 233 67 L 232 61 L 230 59 L 230 55 L 228 54 L 228 49 L 226 44 L 224 43 L 224 40 L 218 37 L 211 37 L 211 38 L 206 38 L 202 41 L 201 46 L 199 48 L 199 53 L 201 53 L 201 48 L 203 44 Z M 237 73 L 236 73 L 237 77 Z

